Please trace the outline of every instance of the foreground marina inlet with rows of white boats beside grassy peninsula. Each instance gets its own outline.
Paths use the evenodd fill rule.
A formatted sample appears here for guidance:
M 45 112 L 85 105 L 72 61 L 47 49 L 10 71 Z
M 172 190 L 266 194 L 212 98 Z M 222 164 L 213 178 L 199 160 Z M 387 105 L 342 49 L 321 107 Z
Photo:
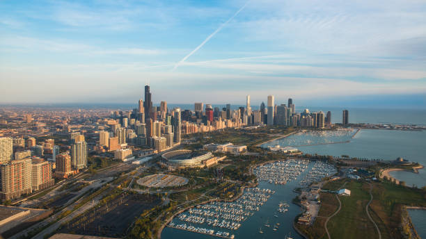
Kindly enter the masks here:
M 290 158 L 261 165 L 253 170 L 258 187 L 244 189 L 242 196 L 232 202 L 214 201 L 189 208 L 168 224 L 164 235 L 283 238 L 292 233 L 296 235 L 292 238 L 300 238 L 292 229 L 294 217 L 301 213 L 299 206 L 288 203 L 296 196 L 292 190 L 302 181 L 308 185 L 334 172 L 334 167 L 319 160 Z M 249 231 L 251 234 L 247 234 Z

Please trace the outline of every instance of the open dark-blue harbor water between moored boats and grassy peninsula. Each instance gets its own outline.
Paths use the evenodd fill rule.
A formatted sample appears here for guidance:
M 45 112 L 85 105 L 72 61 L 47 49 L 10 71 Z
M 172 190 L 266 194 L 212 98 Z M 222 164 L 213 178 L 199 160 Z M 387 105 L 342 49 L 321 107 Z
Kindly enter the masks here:
M 268 201 L 265 202 L 262 206 L 260 206 L 259 211 L 254 211 L 254 214 L 245 222 L 241 222 L 242 226 L 232 231 L 231 234 L 235 235 L 235 238 L 285 238 L 289 233 L 292 238 L 302 238 L 299 234 L 294 231 L 292 227 L 292 223 L 294 217 L 301 213 L 301 208 L 295 204 L 292 204 L 292 199 L 299 195 L 296 192 L 293 192 L 294 188 L 300 187 L 299 183 L 306 176 L 310 170 L 312 169 L 314 163 L 311 162 L 308 165 L 308 168 L 302 172 L 297 179 L 293 181 L 287 182 L 285 185 L 267 183 L 266 181 L 259 182 L 259 188 L 268 188 L 270 190 L 274 190 L 275 193 L 269 197 Z M 288 211 L 286 213 L 277 213 L 278 204 L 280 201 L 287 201 L 290 204 Z M 274 215 L 278 215 L 278 217 L 274 217 Z M 175 223 L 183 223 L 178 220 L 177 217 L 173 219 Z M 271 227 L 266 227 L 264 224 L 269 222 Z M 186 224 L 191 224 L 189 222 L 184 222 Z M 280 223 L 277 231 L 273 231 L 274 224 Z M 210 228 L 206 224 L 191 224 L 193 226 L 200 226 L 203 228 Z M 259 233 L 259 229 L 262 228 L 264 233 Z M 226 229 L 217 229 L 219 231 L 228 231 Z M 216 231 L 215 230 L 215 231 Z M 184 231 L 181 229 L 173 229 L 166 227 L 161 233 L 161 238 L 187 238 L 187 239 L 198 239 L 198 238 L 216 238 L 215 236 L 209 236 L 205 234 L 195 233 L 191 231 Z

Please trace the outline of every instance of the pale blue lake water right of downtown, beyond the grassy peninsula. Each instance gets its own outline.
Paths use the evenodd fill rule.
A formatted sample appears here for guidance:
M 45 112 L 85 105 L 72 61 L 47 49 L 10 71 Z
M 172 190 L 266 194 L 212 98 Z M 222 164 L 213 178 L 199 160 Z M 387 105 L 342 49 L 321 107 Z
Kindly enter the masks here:
M 293 146 L 305 154 L 319 154 L 342 156 L 348 155 L 356 158 L 395 160 L 402 157 L 426 166 L 426 131 L 391 131 L 385 129 L 361 129 L 352 138 L 355 131 L 349 132 L 306 132 L 290 135 L 287 138 L 267 142 L 262 147 L 281 145 Z M 349 140 L 349 142 L 346 142 Z M 344 142 L 329 145 L 320 143 Z M 310 146 L 298 146 L 310 145 Z M 405 181 L 408 186 L 413 184 L 418 187 L 426 186 L 425 168 L 412 172 L 390 172 L 400 181 Z

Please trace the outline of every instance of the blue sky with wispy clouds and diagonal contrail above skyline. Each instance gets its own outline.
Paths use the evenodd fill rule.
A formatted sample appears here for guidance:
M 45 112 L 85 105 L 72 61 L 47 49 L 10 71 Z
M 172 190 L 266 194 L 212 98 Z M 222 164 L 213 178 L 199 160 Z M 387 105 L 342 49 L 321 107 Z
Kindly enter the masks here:
M 0 102 L 127 103 L 150 83 L 155 102 L 426 108 L 425 16 L 420 0 L 0 1 Z

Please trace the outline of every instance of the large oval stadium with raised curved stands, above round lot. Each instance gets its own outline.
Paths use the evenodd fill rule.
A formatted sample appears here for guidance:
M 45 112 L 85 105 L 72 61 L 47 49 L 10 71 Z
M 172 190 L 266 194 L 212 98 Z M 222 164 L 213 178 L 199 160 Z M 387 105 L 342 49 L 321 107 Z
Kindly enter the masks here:
M 194 152 L 187 149 L 170 151 L 161 156 L 160 164 L 175 170 L 185 167 L 209 167 L 218 162 L 211 152 Z

